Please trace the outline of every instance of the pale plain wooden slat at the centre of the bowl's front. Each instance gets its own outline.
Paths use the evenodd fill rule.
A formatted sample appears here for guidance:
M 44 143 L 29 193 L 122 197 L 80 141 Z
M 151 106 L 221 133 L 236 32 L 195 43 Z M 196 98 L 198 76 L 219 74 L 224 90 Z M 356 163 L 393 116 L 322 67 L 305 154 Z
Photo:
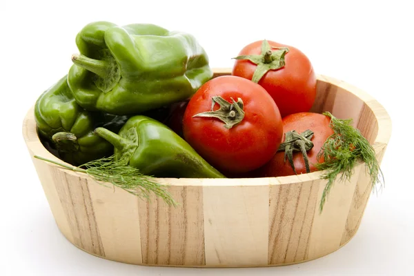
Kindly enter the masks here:
M 207 266 L 268 263 L 268 186 L 204 186 Z

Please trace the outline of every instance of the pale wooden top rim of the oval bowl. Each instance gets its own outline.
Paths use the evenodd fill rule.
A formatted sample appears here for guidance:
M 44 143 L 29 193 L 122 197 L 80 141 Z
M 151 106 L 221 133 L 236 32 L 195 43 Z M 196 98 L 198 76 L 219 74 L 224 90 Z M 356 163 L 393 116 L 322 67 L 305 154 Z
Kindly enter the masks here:
M 213 68 L 213 72 L 215 75 L 230 75 L 231 68 Z M 371 95 L 369 95 L 364 90 L 361 90 L 350 83 L 346 83 L 345 81 L 335 79 L 334 77 L 328 77 L 326 75 L 317 75 L 317 81 L 322 81 L 325 83 L 330 83 L 331 85 L 337 86 L 342 88 L 351 94 L 355 95 L 357 98 L 361 99 L 368 108 L 370 108 L 371 112 L 375 116 L 375 120 L 378 124 L 378 133 L 377 137 L 375 137 L 375 141 L 373 142 L 373 148 L 375 149 L 376 154 L 378 154 L 381 150 L 383 150 L 384 146 L 388 144 L 389 139 L 391 138 L 391 117 L 386 112 L 385 108 Z M 41 144 L 41 141 L 37 135 L 36 131 L 36 122 L 34 120 L 34 106 L 32 106 L 26 116 L 23 119 L 23 139 L 28 146 L 28 149 L 33 152 L 33 155 L 38 155 L 44 157 L 46 159 L 51 159 L 53 161 L 58 161 L 61 164 L 65 164 L 66 166 L 71 166 L 70 164 L 66 163 L 65 161 L 55 157 L 49 152 L 44 146 Z M 46 161 L 43 161 L 46 162 Z M 54 166 L 58 170 L 64 171 L 65 173 L 69 174 L 77 174 L 79 173 L 72 172 L 63 168 L 61 166 L 57 166 L 52 163 L 48 163 L 49 166 Z M 359 162 L 357 166 L 363 166 L 362 162 Z M 286 177 L 262 177 L 262 178 L 244 178 L 244 185 L 243 186 L 262 186 L 263 184 L 268 185 L 282 185 L 282 184 L 297 184 L 304 181 L 314 181 L 320 180 L 320 176 L 324 173 L 324 171 L 317 171 L 306 173 L 304 175 L 290 175 Z M 91 179 L 88 175 L 82 175 L 87 179 Z M 186 179 L 186 178 L 157 178 L 159 182 L 164 184 L 169 184 L 172 186 L 239 186 L 239 179 L 241 178 L 224 178 L 224 179 L 201 179 L 202 181 L 195 181 L 196 179 Z M 260 181 L 257 181 L 260 179 Z M 200 179 L 199 179 L 200 180 Z

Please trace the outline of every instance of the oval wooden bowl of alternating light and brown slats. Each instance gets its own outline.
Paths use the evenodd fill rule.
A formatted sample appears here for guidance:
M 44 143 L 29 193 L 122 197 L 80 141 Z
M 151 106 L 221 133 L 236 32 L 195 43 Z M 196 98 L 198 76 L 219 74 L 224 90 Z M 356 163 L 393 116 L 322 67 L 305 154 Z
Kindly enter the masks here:
M 215 77 L 229 75 L 216 69 Z M 353 118 L 381 161 L 391 135 L 386 110 L 365 92 L 317 77 L 313 112 Z M 365 166 L 337 181 L 324 211 L 322 172 L 252 179 L 159 179 L 179 202 L 143 201 L 87 175 L 34 158 L 60 161 L 37 136 L 33 110 L 23 137 L 61 233 L 86 252 L 155 266 L 279 266 L 306 262 L 341 248 L 356 233 L 371 195 Z M 63 162 L 63 161 L 61 161 Z

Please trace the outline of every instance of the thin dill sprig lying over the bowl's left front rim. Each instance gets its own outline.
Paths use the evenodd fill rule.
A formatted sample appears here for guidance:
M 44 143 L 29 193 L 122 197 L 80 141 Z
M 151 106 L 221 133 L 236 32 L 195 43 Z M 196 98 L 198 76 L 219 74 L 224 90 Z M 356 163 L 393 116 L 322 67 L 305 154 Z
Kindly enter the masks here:
M 115 160 L 112 155 L 110 157 L 93 160 L 79 167 L 75 167 L 67 166 L 57 161 L 39 157 L 37 155 L 34 155 L 34 157 L 74 172 L 86 173 L 102 186 L 106 186 L 105 183 L 108 182 L 113 186 L 126 190 L 132 195 L 147 200 L 150 199 L 150 194 L 154 193 L 158 197 L 164 199 L 166 204 L 177 206 L 176 201 L 172 198 L 172 195 L 165 190 L 164 185 L 159 184 L 155 177 L 143 175 L 137 168 L 128 166 L 126 159 Z

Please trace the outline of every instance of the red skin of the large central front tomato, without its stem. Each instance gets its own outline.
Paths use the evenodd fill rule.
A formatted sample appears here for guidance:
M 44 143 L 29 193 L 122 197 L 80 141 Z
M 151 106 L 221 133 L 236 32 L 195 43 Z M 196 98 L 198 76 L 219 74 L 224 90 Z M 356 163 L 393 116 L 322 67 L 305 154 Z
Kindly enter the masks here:
M 241 98 L 244 119 L 233 128 L 224 128 L 216 118 L 193 117 L 211 109 L 212 97 L 226 101 Z M 214 110 L 219 105 L 216 103 Z M 183 120 L 188 144 L 224 174 L 247 172 L 266 164 L 282 141 L 282 117 L 266 90 L 253 81 L 222 76 L 205 83 L 190 99 Z

